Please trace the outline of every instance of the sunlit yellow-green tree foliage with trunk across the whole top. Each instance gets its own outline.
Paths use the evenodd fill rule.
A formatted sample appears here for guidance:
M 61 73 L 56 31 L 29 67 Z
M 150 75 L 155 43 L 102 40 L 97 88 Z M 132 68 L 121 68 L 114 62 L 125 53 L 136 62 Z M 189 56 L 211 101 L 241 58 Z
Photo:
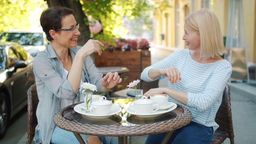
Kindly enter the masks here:
M 127 27 L 136 35 L 143 30 L 150 31 L 153 21 L 149 18 L 149 11 L 168 6 L 167 0 L 151 0 L 154 4 L 148 0 L 0 0 L 0 32 L 28 30 L 32 24 L 40 26 L 40 7 L 45 5 L 44 1 L 48 7 L 64 6 L 74 10 L 73 15 L 80 23 L 79 45 L 83 45 L 90 36 L 104 41 L 120 38 L 128 34 Z M 90 33 L 88 18 L 101 22 L 103 30 L 99 34 Z

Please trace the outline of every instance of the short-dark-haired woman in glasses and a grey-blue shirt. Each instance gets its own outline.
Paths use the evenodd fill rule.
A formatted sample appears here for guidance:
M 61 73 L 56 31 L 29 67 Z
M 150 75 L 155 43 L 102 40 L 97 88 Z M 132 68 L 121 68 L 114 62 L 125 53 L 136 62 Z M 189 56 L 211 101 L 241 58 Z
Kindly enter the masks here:
M 79 144 L 72 132 L 56 126 L 54 115 L 62 108 L 83 101 L 83 82 L 94 84 L 98 92 L 108 92 L 122 79 L 117 72 L 102 73 L 94 66 L 90 54 L 101 55 L 98 40 L 88 40 L 84 46 L 77 46 L 80 35 L 79 24 L 69 8 L 49 8 L 42 12 L 40 23 L 50 44 L 34 58 L 33 70 L 39 98 L 36 116 L 36 144 Z M 89 144 L 115 143 L 114 137 L 82 135 Z

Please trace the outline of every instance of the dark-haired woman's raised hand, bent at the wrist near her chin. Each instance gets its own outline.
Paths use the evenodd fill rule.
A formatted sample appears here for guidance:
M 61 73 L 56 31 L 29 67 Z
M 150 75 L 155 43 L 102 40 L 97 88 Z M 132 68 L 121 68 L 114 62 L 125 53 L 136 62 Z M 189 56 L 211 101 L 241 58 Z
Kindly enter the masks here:
M 98 55 L 101 56 L 102 50 L 100 46 L 104 46 L 104 44 L 98 40 L 88 40 L 88 42 L 86 42 L 78 52 L 83 54 L 84 57 L 90 56 L 93 52 L 98 52 Z

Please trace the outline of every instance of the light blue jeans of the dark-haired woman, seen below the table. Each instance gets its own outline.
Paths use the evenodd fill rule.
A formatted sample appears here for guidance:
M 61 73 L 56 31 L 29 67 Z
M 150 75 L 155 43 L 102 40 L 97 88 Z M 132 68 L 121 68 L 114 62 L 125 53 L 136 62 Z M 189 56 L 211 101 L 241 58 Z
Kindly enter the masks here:
M 39 139 L 42 141 L 40 130 L 39 133 Z M 89 135 L 80 134 L 85 142 L 87 142 L 87 137 Z M 117 137 L 110 137 L 110 136 L 98 136 L 100 141 L 103 144 L 118 144 L 118 138 Z M 54 126 L 53 134 L 51 143 L 54 144 L 80 144 L 76 138 L 76 136 L 73 134 L 73 132 L 69 132 L 67 130 L 63 130 L 59 128 L 58 126 Z M 87 144 L 87 143 L 86 143 Z

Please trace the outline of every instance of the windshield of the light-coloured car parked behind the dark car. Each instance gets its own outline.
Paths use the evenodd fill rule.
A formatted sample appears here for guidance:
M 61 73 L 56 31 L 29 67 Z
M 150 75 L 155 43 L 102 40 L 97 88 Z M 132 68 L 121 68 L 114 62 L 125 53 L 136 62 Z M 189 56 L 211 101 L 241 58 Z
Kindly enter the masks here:
M 42 46 L 44 44 L 43 34 L 26 33 L 26 32 L 11 32 L 4 33 L 0 37 L 1 42 L 18 42 L 21 45 Z

